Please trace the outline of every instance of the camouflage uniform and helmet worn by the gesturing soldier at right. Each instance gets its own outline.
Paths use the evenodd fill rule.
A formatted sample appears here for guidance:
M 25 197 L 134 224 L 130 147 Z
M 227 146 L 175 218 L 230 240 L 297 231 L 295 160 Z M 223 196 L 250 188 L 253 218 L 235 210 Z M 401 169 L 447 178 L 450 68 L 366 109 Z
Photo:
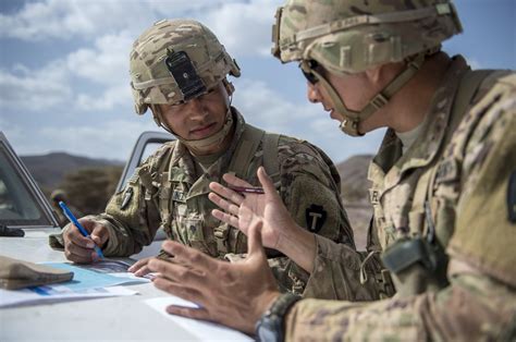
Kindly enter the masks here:
M 460 32 L 447 0 L 290 0 L 277 13 L 273 54 L 300 61 L 343 117 L 341 129 L 359 135 L 358 123 Z M 402 61 L 405 69 L 359 111 L 345 107 L 318 69 L 358 73 Z M 514 73 L 471 72 L 462 57 L 452 60 L 417 142 L 402 154 L 389 130 L 371 162 L 369 258 L 358 264 L 354 251 L 316 237 L 306 292 L 353 298 L 361 295 L 349 285 L 357 280 L 389 284 L 385 270 L 369 265 L 381 253 L 396 295 L 367 304 L 300 301 L 285 317 L 286 340 L 516 339 L 515 99 Z M 273 307 L 282 309 L 284 298 Z

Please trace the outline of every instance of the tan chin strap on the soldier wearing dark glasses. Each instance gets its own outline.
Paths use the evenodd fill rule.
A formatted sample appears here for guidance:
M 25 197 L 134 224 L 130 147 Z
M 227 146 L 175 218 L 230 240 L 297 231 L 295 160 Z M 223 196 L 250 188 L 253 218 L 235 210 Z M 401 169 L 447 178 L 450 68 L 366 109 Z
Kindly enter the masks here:
M 407 62 L 407 66 L 394 80 L 392 80 L 380 93 L 378 93 L 360 111 L 349 110 L 335 88 L 316 70 L 310 71 L 318 77 L 322 86 L 329 94 L 335 110 L 344 119 L 340 125 L 342 132 L 351 136 L 361 136 L 358 132 L 358 124 L 371 117 L 380 108 L 389 103 L 391 98 L 396 94 L 421 68 L 425 62 L 426 53 L 419 53 Z

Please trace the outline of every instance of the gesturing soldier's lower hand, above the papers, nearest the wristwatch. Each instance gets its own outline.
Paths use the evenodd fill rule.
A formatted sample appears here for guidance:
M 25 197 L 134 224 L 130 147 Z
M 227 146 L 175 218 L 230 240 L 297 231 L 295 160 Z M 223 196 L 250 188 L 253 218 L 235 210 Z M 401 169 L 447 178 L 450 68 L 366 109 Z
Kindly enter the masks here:
M 162 248 L 177 264 L 160 259 L 148 262 L 156 288 L 192 301 L 200 308 L 171 305 L 169 314 L 216 321 L 248 333 L 280 294 L 261 244 L 261 222 L 249 227 L 248 255 L 242 262 L 221 261 L 173 241 Z

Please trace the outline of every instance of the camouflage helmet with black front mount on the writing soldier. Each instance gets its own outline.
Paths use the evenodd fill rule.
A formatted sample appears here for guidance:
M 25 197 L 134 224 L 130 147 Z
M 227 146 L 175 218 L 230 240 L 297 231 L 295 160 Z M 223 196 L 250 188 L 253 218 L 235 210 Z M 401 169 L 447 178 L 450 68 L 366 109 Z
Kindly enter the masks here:
M 228 74 L 241 74 L 216 35 L 193 20 L 162 20 L 144 32 L 133 44 L 130 73 L 138 114 L 151 103 L 182 103 Z

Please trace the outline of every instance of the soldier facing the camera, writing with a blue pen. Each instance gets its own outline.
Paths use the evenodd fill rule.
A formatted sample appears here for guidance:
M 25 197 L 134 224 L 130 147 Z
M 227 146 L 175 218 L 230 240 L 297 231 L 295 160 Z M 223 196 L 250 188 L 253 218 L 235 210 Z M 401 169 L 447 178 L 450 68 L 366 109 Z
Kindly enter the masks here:
M 208 27 L 189 20 L 157 22 L 136 39 L 130 69 L 136 112 L 150 109 L 158 125 L 177 139 L 136 170 L 105 213 L 79 220 L 105 256 L 138 253 L 161 227 L 169 239 L 210 256 L 242 259 L 246 236 L 211 216 L 208 185 L 226 172 L 257 185 L 260 166 L 273 174 L 299 225 L 355 248 L 333 162 L 307 142 L 245 123 L 231 106 L 234 88 L 226 78 L 239 76 L 239 68 Z M 51 245 L 64 247 L 70 260 L 97 260 L 91 242 L 70 228 Z M 308 273 L 277 251 L 268 256 L 280 289 L 303 293 Z M 130 270 L 144 276 L 147 262 Z

